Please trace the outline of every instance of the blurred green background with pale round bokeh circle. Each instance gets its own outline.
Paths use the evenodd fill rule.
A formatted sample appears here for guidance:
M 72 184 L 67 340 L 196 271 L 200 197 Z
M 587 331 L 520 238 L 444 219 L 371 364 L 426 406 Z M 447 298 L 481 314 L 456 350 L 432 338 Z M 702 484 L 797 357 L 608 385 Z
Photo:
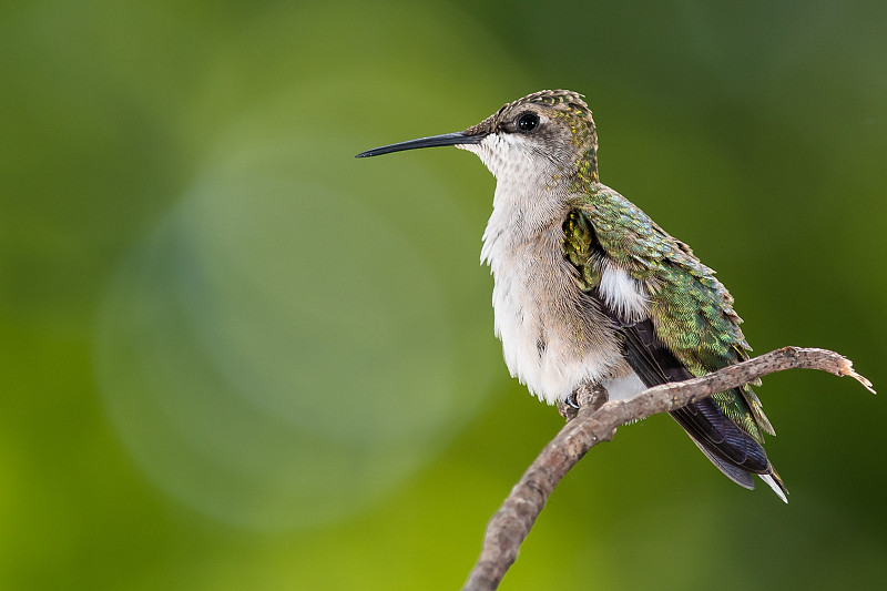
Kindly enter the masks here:
M 887 387 L 887 4 L 7 1 L 0 587 L 458 589 L 561 426 L 509 378 L 470 154 L 543 88 L 720 271 L 758 353 Z M 789 489 L 671 419 L 554 492 L 502 589 L 875 589 L 887 407 L 759 394 Z

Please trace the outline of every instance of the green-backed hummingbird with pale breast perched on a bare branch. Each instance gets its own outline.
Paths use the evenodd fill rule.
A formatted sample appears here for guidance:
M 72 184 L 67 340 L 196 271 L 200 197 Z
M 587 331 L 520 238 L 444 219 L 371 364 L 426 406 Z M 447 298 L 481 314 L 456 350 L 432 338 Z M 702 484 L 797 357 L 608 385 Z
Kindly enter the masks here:
M 477 154 L 496 177 L 481 263 L 493 275 L 495 332 L 531 394 L 577 407 L 580 388 L 610 400 L 748 358 L 733 296 L 683 242 L 598 175 L 598 133 L 583 95 L 543 90 L 456 133 L 385 145 Z M 750 385 L 672 410 L 727 478 L 787 489 L 762 444 L 773 426 Z

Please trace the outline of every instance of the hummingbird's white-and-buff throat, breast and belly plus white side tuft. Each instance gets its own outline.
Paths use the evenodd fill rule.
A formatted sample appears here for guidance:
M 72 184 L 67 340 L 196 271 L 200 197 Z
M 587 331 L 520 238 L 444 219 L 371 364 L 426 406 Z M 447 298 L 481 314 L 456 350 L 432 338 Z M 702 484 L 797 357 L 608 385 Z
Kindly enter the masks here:
M 563 256 L 565 176 L 522 142 L 519 135 L 491 134 L 459 146 L 478 154 L 498 180 L 481 262 L 490 265 L 496 283 L 496 335 L 506 365 L 549 404 L 583 381 L 619 381 L 620 395 L 628 396 L 639 380 L 623 379 L 631 369 L 609 320 L 583 299 Z M 616 273 L 606 289 L 629 310 L 636 308 L 631 282 Z

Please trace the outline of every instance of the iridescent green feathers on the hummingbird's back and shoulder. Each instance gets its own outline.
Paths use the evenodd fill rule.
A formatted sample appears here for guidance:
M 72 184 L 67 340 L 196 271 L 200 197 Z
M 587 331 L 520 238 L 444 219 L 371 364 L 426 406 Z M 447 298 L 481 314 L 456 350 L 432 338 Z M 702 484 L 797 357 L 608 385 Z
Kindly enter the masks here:
M 751 347 L 740 329 L 733 297 L 685 244 L 670 236 L 638 206 L 600 184 L 572 204 L 564 222 L 564 254 L 580 285 L 600 285 L 592 256 L 600 248 L 642 282 L 657 338 L 694 376 L 747 359 Z M 773 427 L 750 386 L 712 397 L 743 430 L 763 440 Z

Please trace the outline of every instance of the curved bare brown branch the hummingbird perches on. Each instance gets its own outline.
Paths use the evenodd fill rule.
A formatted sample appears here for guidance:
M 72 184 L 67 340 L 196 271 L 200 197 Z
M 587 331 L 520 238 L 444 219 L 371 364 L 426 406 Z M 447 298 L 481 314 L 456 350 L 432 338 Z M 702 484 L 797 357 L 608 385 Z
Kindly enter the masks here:
M 601 441 L 610 441 L 619 426 L 681 408 L 768 374 L 796 368 L 850 376 L 875 394 L 871 383 L 857 374 L 846 357 L 827 349 L 801 347 L 785 347 L 700 378 L 649 388 L 630 400 L 603 404 L 606 400 L 603 388 L 582 388 L 577 393 L 580 409 L 573 411 L 575 418 L 568 417 L 569 422 L 546 446 L 490 519 L 480 558 L 462 591 L 489 591 L 499 587 L 554 487 L 589 449 Z

